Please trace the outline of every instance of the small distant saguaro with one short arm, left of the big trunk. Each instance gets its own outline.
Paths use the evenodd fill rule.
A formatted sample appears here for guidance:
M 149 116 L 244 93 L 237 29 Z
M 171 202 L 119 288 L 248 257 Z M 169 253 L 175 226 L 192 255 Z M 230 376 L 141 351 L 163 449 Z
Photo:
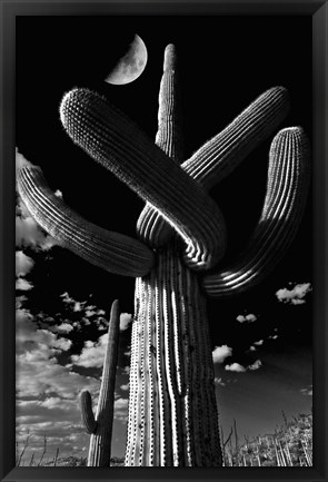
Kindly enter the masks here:
M 86 390 L 80 394 L 82 422 L 86 431 L 91 435 L 88 454 L 88 466 L 110 466 L 119 329 L 119 302 L 116 299 L 111 305 L 108 327 L 108 342 L 103 361 L 96 417 L 92 412 L 90 392 Z

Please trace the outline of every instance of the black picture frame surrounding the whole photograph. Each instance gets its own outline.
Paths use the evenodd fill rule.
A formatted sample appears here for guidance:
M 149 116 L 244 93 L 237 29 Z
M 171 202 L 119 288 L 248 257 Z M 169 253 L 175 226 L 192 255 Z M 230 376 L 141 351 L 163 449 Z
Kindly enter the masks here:
M 14 466 L 14 21 L 29 14 L 281 14 L 309 16 L 312 19 L 312 99 L 314 99 L 314 447 L 312 468 L 265 469 L 90 469 Z M 327 1 L 1 1 L 1 481 L 91 481 L 91 480 L 220 480 L 289 481 L 328 479 L 327 464 Z M 300 79 L 301 81 L 301 79 Z

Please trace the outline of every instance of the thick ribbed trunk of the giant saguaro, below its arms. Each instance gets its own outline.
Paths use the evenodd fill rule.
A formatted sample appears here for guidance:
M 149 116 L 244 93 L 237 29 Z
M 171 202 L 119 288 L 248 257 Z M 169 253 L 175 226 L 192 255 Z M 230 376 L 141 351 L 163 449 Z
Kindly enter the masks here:
M 176 242 L 136 281 L 126 466 L 221 465 L 206 302 Z

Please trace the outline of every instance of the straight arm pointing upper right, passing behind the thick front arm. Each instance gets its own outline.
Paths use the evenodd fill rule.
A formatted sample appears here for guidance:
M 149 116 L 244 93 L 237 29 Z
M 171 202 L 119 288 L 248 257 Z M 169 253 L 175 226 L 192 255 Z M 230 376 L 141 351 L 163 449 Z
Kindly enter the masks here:
M 284 120 L 289 110 L 289 95 L 284 87 L 272 87 L 251 102 L 221 132 L 208 140 L 181 167 L 207 190 L 227 177 Z M 168 242 L 172 230 L 151 206 L 138 219 L 138 234 L 148 245 Z

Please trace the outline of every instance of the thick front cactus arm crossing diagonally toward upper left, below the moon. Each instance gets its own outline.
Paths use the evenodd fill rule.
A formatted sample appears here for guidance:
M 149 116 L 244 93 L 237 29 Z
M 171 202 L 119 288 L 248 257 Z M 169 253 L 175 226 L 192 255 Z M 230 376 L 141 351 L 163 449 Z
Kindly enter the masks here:
M 215 201 L 133 122 L 88 89 L 66 94 L 60 116 L 76 144 L 175 227 L 190 267 L 207 269 L 223 256 L 226 227 Z

